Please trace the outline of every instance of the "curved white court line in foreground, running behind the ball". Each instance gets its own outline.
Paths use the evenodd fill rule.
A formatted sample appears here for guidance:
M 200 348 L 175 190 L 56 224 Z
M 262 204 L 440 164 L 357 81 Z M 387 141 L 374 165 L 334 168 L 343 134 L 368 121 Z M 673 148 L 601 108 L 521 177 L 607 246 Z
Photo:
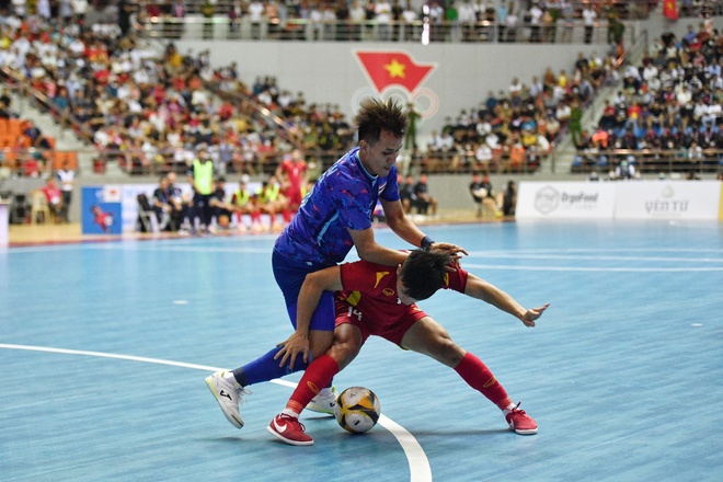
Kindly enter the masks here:
M 125 359 L 130 362 L 141 362 L 147 364 L 157 364 L 157 365 L 169 365 L 172 367 L 182 367 L 191 368 L 194 370 L 203 371 L 220 371 L 227 368 L 211 367 L 207 365 L 196 365 L 196 364 L 186 364 L 183 362 L 173 362 L 161 358 L 147 358 L 144 356 L 133 356 L 133 355 L 118 355 L 115 353 L 103 353 L 103 352 L 87 352 L 82 349 L 67 349 L 67 348 L 51 348 L 45 346 L 32 346 L 32 345 L 12 345 L 0 343 L 0 348 L 5 349 L 23 349 L 26 352 L 45 352 L 45 353 L 59 353 L 64 355 L 81 355 L 81 356 L 94 356 L 100 358 L 113 358 L 113 359 Z M 272 383 L 283 385 L 289 388 L 296 388 L 297 383 L 290 381 L 274 379 L 271 380 Z M 381 415 L 379 417 L 379 425 L 387 428 L 394 438 L 399 441 L 399 445 L 402 446 L 404 454 L 410 466 L 410 482 L 427 482 L 432 480 L 432 468 L 429 467 L 429 460 L 427 459 L 424 449 L 420 443 L 410 434 L 404 427 L 393 422 L 392 420 Z

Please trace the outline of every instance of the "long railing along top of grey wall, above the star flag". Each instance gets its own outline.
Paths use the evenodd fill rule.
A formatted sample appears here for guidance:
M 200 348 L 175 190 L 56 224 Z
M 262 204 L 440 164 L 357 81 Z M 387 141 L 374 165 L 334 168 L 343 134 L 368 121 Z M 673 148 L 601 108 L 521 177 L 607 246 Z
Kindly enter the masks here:
M 390 43 L 544 43 L 544 44 L 610 44 L 613 33 L 608 21 L 598 21 L 592 30 L 583 21 L 572 20 L 549 25 L 519 23 L 510 28 L 497 22 L 473 23 L 427 21 L 312 22 L 303 19 L 286 21 L 262 20 L 252 23 L 243 18 L 231 21 L 228 16 L 204 18 L 188 15 L 177 19 L 170 15 L 147 16 L 141 14 L 135 25 L 149 38 L 161 39 L 243 39 L 243 41 L 297 41 L 297 42 L 390 42 Z M 627 23 L 623 43 L 636 37 L 635 23 Z

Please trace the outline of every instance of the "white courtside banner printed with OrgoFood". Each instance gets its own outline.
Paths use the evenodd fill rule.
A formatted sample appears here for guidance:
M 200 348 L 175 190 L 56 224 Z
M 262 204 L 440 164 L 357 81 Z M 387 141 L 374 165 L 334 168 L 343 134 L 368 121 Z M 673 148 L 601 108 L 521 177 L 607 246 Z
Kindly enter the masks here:
M 521 182 L 517 219 L 612 219 L 615 183 Z

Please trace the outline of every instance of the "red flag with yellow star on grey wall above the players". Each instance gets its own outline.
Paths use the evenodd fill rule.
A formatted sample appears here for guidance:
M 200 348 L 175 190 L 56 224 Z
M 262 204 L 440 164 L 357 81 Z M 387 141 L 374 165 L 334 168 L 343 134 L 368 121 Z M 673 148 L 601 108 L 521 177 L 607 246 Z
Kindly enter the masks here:
M 356 56 L 379 92 L 389 85 L 402 85 L 414 92 L 436 67 L 416 64 L 403 51 L 357 51 Z

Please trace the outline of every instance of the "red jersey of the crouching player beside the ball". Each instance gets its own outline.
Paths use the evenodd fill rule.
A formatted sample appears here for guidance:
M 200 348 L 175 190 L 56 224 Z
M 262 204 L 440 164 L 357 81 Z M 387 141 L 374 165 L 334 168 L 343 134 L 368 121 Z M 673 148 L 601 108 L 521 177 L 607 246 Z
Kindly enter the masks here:
M 399 301 L 397 296 L 397 268 L 381 264 L 357 261 L 342 264 L 341 297 L 356 310 L 364 313 L 365 319 L 374 320 L 378 325 L 390 325 L 409 312 L 420 311 L 416 303 L 410 306 Z M 447 273 L 443 289 L 454 289 L 464 292 L 467 272 L 457 267 L 456 272 Z

